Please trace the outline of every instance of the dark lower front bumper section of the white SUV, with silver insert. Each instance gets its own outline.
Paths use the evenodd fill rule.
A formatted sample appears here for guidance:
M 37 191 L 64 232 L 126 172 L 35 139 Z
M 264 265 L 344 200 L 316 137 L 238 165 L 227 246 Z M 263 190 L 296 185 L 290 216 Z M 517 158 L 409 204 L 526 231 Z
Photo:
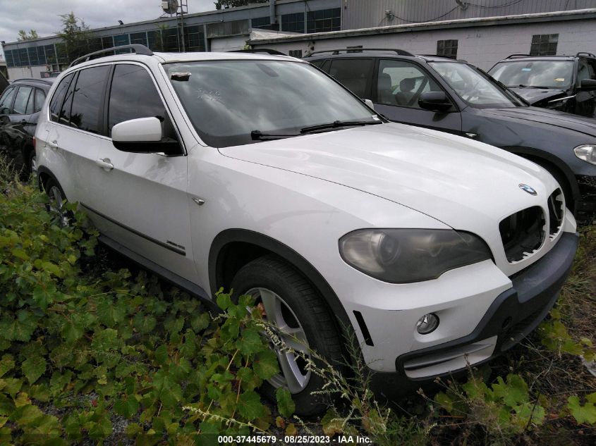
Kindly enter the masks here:
M 425 381 L 466 370 L 467 364 L 481 364 L 516 345 L 557 302 L 577 247 L 578 235 L 561 235 L 540 261 L 511 277 L 513 287 L 494 299 L 472 333 L 401 355 L 396 358 L 395 372 L 371 371 L 372 390 L 389 399 L 399 397 Z

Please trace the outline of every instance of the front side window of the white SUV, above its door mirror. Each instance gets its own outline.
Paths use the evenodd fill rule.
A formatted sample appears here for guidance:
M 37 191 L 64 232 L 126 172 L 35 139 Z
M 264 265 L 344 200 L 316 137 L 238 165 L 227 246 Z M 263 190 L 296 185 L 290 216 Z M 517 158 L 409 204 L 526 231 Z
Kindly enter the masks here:
M 153 80 L 147 70 L 137 65 L 118 65 L 111 83 L 108 131 L 125 120 L 157 117 L 165 120 L 166 107 L 159 97 Z M 166 120 L 165 135 L 176 138 L 169 119 Z

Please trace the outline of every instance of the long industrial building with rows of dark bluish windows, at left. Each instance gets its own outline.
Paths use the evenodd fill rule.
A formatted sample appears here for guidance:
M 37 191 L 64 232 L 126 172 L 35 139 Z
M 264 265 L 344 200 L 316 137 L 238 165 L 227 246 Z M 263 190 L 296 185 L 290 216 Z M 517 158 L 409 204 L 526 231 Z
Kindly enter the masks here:
M 192 0 L 191 0 L 192 1 Z M 182 2 L 186 4 L 186 2 Z M 116 20 L 114 20 L 116 22 Z M 255 32 L 258 30 L 258 32 Z M 90 30 L 89 52 L 143 44 L 153 51 L 230 51 L 258 36 L 341 30 L 341 0 L 277 0 Z M 70 58 L 57 36 L 3 43 L 8 78 L 42 78 Z

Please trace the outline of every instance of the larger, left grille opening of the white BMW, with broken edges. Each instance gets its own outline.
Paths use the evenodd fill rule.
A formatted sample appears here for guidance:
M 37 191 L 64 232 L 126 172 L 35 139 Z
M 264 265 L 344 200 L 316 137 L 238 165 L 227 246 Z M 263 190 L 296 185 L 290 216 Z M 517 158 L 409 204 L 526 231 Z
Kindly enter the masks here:
M 499 232 L 509 262 L 519 261 L 542 246 L 545 240 L 545 215 L 538 206 L 523 209 L 504 218 Z

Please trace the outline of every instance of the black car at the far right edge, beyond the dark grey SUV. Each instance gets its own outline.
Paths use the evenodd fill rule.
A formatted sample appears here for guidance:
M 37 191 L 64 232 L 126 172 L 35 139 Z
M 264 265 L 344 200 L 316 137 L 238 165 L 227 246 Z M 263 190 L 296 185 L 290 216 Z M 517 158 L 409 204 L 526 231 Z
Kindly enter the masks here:
M 512 54 L 489 75 L 531 105 L 596 118 L 596 56 Z

